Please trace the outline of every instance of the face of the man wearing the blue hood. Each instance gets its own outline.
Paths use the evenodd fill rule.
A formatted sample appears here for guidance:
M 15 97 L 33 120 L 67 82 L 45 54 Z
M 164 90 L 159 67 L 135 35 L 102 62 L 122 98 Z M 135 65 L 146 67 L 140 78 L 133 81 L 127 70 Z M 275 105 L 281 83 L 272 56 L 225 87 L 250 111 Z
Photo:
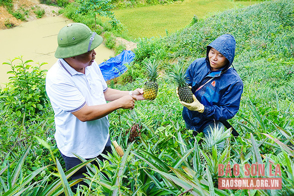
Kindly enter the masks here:
M 212 71 L 217 71 L 225 66 L 228 60 L 217 50 L 211 48 L 208 53 L 208 59 Z

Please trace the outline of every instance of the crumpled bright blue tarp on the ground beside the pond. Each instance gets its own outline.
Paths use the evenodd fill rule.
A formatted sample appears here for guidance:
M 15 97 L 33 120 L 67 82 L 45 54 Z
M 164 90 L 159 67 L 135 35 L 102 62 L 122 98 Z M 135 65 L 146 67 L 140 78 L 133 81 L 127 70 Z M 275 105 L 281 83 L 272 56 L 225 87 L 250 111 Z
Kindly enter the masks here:
M 127 70 L 124 64 L 130 63 L 134 57 L 135 54 L 132 51 L 124 50 L 116 57 L 99 64 L 104 80 L 111 80 L 123 74 Z

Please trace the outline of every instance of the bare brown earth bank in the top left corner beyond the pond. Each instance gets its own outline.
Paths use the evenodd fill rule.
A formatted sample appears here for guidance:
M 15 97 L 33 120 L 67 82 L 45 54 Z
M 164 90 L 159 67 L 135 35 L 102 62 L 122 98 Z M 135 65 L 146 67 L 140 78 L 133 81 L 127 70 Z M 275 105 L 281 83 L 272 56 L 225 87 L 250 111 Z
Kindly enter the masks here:
M 45 15 L 43 17 L 51 17 L 58 15 L 60 8 L 54 6 L 47 6 L 40 4 L 39 0 L 14 0 L 14 10 L 19 10 L 21 13 L 27 12 L 25 15 L 26 21 L 32 21 L 37 19 L 34 11 L 36 10 L 45 10 Z M 8 13 L 5 7 L 0 6 L 0 29 L 7 29 L 8 26 L 16 27 L 20 24 L 26 22 L 16 19 L 14 16 Z

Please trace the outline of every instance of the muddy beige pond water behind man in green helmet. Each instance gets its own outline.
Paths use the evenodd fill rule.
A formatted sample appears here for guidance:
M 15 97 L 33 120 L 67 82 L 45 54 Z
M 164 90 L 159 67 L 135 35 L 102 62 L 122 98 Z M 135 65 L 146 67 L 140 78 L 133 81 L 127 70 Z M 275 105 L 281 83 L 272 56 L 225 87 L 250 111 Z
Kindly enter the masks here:
M 57 16 L 23 23 L 13 29 L 0 30 L 0 86 L 8 82 L 7 71 L 10 71 L 10 67 L 2 65 L 8 59 L 23 56 L 25 61 L 31 59 L 34 62 L 46 62 L 48 64 L 44 65 L 43 69 L 50 69 L 57 61 L 54 57 L 57 34 L 69 23 L 72 21 Z M 104 45 L 100 45 L 95 51 L 95 61 L 98 64 L 114 56 Z

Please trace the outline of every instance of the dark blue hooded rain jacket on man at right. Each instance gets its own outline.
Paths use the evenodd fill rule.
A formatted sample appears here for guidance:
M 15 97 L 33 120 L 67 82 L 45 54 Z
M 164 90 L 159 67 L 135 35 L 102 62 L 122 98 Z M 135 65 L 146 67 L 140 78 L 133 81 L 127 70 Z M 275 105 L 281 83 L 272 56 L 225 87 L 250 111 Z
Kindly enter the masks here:
M 207 46 L 206 58 L 195 60 L 187 69 L 192 92 L 204 105 L 204 112 L 183 109 L 183 118 L 192 130 L 201 132 L 210 122 L 231 119 L 239 110 L 243 82 L 231 66 L 235 56 L 236 41 L 231 35 L 222 35 Z M 211 48 L 219 51 L 229 61 L 217 71 L 211 71 L 208 53 Z M 209 79 L 209 83 L 196 90 Z

